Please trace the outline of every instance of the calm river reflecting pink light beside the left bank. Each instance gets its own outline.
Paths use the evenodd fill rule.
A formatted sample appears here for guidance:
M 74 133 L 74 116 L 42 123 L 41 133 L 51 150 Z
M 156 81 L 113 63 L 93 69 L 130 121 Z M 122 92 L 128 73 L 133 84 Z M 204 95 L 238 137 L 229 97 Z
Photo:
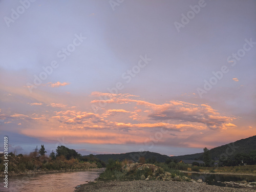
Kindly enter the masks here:
M 104 168 L 88 169 L 75 172 L 34 174 L 27 176 L 10 176 L 8 189 L 0 184 L 0 191 L 14 192 L 45 192 L 45 191 L 74 191 L 77 185 L 88 183 L 99 177 Z M 2 178 L 1 178 L 2 179 Z

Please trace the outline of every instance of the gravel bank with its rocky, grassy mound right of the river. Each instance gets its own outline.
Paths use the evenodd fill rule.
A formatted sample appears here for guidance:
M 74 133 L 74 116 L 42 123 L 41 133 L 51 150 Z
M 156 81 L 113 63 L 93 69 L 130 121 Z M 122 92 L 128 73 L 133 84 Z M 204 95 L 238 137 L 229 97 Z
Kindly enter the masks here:
M 213 172 L 212 167 L 198 168 L 199 172 Z M 189 173 L 192 173 L 191 168 L 189 170 Z M 243 189 L 206 185 L 202 179 L 187 178 L 182 172 L 185 171 L 170 168 L 165 163 L 129 164 L 124 161 L 110 160 L 105 172 L 101 173 L 98 179 L 89 184 L 77 186 L 76 191 L 124 191 L 125 187 L 127 191 L 187 191 L 188 189 L 189 191 L 254 191 L 256 188 L 252 184 L 238 186 Z

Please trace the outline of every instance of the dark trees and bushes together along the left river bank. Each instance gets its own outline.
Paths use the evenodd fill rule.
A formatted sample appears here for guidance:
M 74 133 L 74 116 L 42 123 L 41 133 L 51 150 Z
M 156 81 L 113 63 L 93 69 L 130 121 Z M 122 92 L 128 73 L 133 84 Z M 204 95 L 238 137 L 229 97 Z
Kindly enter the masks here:
M 61 172 L 66 170 L 80 170 L 88 168 L 101 168 L 105 163 L 95 158 L 92 154 L 88 157 L 82 157 L 75 150 L 65 146 L 58 146 L 56 154 L 52 152 L 50 156 L 46 155 L 44 145 L 40 150 L 37 148 L 29 155 L 8 156 L 8 175 L 26 175 L 46 172 Z M 0 157 L 0 177 L 4 176 L 4 157 Z

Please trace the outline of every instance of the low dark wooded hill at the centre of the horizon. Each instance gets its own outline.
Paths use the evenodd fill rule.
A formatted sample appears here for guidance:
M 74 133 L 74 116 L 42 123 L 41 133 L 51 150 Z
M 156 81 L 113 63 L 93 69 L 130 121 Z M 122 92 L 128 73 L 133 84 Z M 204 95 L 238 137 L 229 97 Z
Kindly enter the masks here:
M 88 157 L 88 156 L 83 156 Z M 159 162 L 165 162 L 166 159 L 170 157 L 167 155 L 161 155 L 159 153 L 154 152 L 130 152 L 123 154 L 103 154 L 103 155 L 94 155 L 94 157 L 98 158 L 101 161 L 108 162 L 109 159 L 122 161 L 124 159 L 130 159 L 134 162 L 139 161 L 140 157 L 144 157 L 145 159 L 153 159 Z

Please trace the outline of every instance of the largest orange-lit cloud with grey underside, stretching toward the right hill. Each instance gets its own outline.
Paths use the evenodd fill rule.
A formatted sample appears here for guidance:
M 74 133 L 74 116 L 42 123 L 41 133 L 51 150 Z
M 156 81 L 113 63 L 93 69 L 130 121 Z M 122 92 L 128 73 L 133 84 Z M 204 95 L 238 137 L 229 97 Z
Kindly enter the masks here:
M 110 94 L 93 92 L 92 96 L 97 96 L 100 99 L 92 100 L 91 103 L 135 103 L 137 106 L 142 105 L 145 108 L 150 108 L 153 110 L 151 114 L 148 115 L 152 120 L 162 121 L 162 120 L 173 120 L 182 122 L 195 122 L 205 124 L 209 129 L 225 129 L 234 117 L 226 117 L 220 115 L 217 110 L 211 108 L 208 104 L 194 104 L 178 100 L 171 100 L 168 103 L 155 104 L 148 101 L 137 100 L 131 97 L 134 95 L 124 95 L 124 94 Z M 104 99 L 103 99 L 103 98 Z M 147 110 L 144 112 L 148 112 Z M 134 120 L 135 116 L 131 116 Z

